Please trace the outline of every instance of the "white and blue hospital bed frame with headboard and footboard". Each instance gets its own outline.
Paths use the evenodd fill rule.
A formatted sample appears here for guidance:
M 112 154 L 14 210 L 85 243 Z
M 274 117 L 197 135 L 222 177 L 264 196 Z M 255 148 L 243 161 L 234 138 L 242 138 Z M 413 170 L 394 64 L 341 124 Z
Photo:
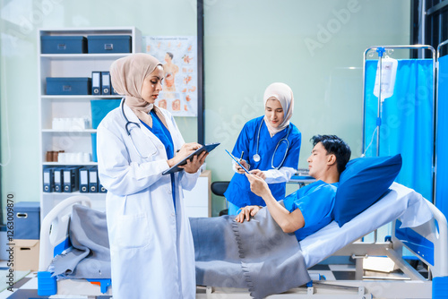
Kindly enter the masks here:
M 80 295 L 95 298 L 112 295 L 110 279 L 64 279 L 56 281 L 47 271 L 53 257 L 69 247 L 68 223 L 73 204 L 90 207 L 86 196 L 73 196 L 60 202 L 41 224 L 38 272 L 38 294 Z M 399 228 L 396 220 L 392 237 L 383 243 L 349 243 L 332 255 L 351 256 L 356 260 L 357 280 L 319 280 L 297 287 L 286 293 L 270 295 L 267 298 L 448 298 L 448 226 L 444 214 L 428 202 L 434 218 L 424 225 Z M 408 248 L 429 269 L 429 278 L 423 278 L 416 269 L 402 258 L 402 248 Z M 363 261 L 368 256 L 387 256 L 395 262 L 408 278 L 403 280 L 363 279 Z M 246 289 L 197 286 L 196 298 L 251 298 Z

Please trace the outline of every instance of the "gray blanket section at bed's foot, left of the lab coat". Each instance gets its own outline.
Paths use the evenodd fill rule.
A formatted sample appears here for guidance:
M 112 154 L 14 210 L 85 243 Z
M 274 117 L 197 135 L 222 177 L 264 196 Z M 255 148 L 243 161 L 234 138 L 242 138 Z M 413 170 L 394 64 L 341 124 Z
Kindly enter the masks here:
M 50 266 L 59 278 L 110 278 L 106 214 L 73 205 L 69 225 L 73 247 L 57 255 Z

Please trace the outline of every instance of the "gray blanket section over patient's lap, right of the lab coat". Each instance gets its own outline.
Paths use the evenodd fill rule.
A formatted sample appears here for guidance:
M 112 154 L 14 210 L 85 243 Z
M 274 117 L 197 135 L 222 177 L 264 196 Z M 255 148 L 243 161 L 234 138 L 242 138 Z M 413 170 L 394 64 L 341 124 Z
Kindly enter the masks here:
M 283 233 L 268 209 L 242 224 L 234 218 L 190 218 L 197 285 L 244 287 L 263 298 L 311 280 L 296 236 Z

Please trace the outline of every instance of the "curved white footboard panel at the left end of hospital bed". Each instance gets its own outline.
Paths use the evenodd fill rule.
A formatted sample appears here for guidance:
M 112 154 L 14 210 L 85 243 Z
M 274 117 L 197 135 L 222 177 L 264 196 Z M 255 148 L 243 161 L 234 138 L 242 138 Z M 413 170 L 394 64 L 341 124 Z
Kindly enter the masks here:
M 90 198 L 87 196 L 71 196 L 59 202 L 51 209 L 40 225 L 39 271 L 47 271 L 54 257 L 55 247 L 64 243 L 68 236 L 68 223 L 73 204 L 82 204 L 90 207 Z

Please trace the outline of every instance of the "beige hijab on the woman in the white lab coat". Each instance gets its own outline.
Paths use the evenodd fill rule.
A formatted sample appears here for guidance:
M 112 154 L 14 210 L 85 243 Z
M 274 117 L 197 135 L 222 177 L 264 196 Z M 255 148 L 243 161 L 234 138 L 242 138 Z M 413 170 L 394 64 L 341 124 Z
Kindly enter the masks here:
M 143 81 L 156 67 L 162 64 L 149 54 L 137 53 L 117 59 L 110 66 L 110 78 L 116 92 L 125 96 L 125 103 L 134 114 L 152 128 L 152 109 L 159 116 L 160 121 L 168 128 L 165 116 L 158 107 L 142 98 Z

